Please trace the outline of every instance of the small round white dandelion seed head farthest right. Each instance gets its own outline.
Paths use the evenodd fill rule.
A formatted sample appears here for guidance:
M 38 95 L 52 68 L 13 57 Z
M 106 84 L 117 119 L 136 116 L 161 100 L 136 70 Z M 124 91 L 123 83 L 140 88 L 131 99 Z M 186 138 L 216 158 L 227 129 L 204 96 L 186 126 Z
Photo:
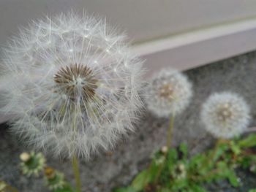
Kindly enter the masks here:
M 236 93 L 214 93 L 203 104 L 200 118 L 206 131 L 214 137 L 230 139 L 243 133 L 249 125 L 249 107 Z

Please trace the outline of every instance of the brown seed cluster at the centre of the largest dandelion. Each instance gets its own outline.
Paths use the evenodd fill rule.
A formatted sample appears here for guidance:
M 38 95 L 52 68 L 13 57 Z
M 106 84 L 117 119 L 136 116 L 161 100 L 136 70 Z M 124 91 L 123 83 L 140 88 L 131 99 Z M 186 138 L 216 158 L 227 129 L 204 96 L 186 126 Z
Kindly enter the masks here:
M 88 66 L 70 64 L 59 69 L 54 75 L 57 90 L 69 99 L 93 99 L 97 89 L 97 79 Z

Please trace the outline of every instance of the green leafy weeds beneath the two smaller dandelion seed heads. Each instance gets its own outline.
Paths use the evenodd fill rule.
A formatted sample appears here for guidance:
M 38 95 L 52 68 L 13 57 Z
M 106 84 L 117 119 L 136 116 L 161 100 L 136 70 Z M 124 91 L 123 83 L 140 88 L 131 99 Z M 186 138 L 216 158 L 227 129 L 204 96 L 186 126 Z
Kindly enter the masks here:
M 214 149 L 190 158 L 184 143 L 167 153 L 159 150 L 150 166 L 140 172 L 129 187 L 117 188 L 114 192 L 206 192 L 203 186 L 217 180 L 227 180 L 236 188 L 240 185 L 237 167 L 256 173 L 255 147 L 256 134 L 251 134 L 244 139 L 219 140 Z

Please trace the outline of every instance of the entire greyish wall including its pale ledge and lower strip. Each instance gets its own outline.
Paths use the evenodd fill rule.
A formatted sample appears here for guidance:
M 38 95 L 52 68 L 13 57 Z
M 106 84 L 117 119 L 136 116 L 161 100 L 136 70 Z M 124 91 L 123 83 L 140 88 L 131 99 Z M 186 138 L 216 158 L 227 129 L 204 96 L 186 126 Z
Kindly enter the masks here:
M 0 45 L 20 26 L 70 9 L 106 17 L 147 59 L 191 69 L 256 48 L 255 0 L 1 0 Z

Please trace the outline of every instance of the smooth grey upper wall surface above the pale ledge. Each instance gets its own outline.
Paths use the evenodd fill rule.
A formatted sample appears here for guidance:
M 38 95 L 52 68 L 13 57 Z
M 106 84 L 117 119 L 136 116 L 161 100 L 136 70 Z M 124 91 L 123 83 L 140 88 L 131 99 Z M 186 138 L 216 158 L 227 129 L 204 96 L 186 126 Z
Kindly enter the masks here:
M 255 0 L 0 0 L 0 44 L 18 26 L 69 9 L 106 16 L 135 42 L 256 15 Z

